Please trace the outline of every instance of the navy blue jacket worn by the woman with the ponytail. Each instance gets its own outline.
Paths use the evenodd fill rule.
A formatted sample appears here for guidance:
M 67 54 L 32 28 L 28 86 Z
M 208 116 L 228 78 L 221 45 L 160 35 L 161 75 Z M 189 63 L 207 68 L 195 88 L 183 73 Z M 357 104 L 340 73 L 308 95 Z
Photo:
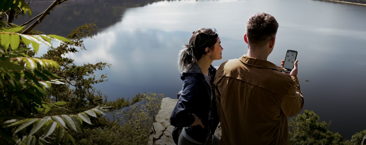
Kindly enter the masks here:
M 201 143 L 206 143 L 208 129 L 211 129 L 211 137 L 219 124 L 216 97 L 213 87 L 216 69 L 212 65 L 209 68 L 209 73 L 211 75 L 210 85 L 212 87 L 210 87 L 205 80 L 205 76 L 203 76 L 201 69 L 199 69 L 197 64 L 193 63 L 188 65 L 187 71 L 180 75 L 180 79 L 183 80 L 183 91 L 170 116 L 171 125 L 175 127 L 185 127 L 187 135 Z M 213 95 L 210 119 L 208 116 L 211 108 L 211 92 L 209 92 L 208 89 L 212 90 L 211 92 Z M 203 125 L 205 125 L 205 129 L 200 125 L 190 126 L 194 122 L 194 116 L 192 114 L 196 114 L 201 118 Z

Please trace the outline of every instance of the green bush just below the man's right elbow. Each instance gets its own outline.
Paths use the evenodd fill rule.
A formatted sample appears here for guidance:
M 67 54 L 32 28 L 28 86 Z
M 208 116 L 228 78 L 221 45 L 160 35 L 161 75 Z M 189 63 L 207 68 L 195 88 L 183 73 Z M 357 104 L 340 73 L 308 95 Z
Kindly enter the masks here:
M 290 144 L 292 145 L 341 145 L 342 136 L 328 130 L 331 122 L 320 122 L 320 117 L 313 111 L 305 110 L 290 118 Z

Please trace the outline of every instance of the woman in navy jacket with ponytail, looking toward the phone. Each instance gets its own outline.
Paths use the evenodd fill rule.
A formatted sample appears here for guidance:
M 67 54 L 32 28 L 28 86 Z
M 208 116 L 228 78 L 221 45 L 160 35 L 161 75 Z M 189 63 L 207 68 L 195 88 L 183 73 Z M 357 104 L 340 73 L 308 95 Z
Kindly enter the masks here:
M 184 127 L 178 145 L 219 144 L 220 139 L 213 136 L 219 118 L 213 87 L 216 69 L 211 63 L 223 58 L 220 43 L 214 28 L 201 28 L 180 51 L 178 69 L 183 89 L 170 117 L 171 125 L 176 127 L 173 138 L 178 134 L 177 127 Z

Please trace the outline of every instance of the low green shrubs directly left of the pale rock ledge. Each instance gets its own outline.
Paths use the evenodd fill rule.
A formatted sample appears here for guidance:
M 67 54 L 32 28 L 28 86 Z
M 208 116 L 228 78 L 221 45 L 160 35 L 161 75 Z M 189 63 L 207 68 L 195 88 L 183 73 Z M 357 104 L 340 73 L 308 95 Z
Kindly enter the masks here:
M 123 125 L 117 121 L 106 122 L 102 129 L 98 127 L 85 131 L 86 138 L 79 141 L 81 145 L 146 145 L 150 129 L 155 122 L 155 116 L 160 110 L 161 100 L 164 95 L 145 93 L 136 95 L 142 98 L 141 102 L 127 108 L 123 113 Z M 135 97 L 135 98 L 136 98 Z M 116 102 L 119 102 L 118 99 Z

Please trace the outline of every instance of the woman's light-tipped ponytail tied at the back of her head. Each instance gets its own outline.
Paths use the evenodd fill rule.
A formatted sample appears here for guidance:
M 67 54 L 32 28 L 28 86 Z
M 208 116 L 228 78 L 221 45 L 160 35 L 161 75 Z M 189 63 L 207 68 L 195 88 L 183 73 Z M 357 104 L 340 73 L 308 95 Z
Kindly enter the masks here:
M 179 60 L 178 60 L 178 70 L 179 73 L 182 73 L 187 69 L 188 64 L 191 64 L 194 60 L 194 55 L 192 51 L 192 47 L 185 44 L 184 49 L 179 52 Z

